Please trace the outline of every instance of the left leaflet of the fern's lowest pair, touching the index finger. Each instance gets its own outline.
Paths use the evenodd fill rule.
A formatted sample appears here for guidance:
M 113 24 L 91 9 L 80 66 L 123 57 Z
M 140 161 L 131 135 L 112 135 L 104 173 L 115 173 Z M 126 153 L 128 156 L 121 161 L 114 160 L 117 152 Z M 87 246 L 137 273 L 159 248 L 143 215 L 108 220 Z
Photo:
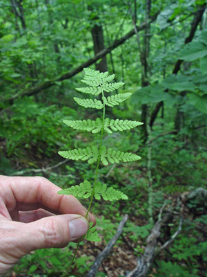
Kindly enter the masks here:
M 89 181 L 85 180 L 79 186 L 71 186 L 65 190 L 59 190 L 59 195 L 73 195 L 80 198 L 88 198 L 92 194 L 92 187 Z

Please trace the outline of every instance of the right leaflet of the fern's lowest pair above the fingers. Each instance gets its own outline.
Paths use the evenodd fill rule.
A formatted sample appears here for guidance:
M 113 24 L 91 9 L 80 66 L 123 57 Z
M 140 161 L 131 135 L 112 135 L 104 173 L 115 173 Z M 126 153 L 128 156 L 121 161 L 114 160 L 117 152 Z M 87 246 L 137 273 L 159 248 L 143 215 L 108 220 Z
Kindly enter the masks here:
M 121 191 L 115 190 L 112 187 L 107 188 L 106 184 L 101 185 L 101 183 L 97 183 L 97 186 L 95 187 L 95 199 L 99 200 L 101 199 L 101 196 L 105 201 L 128 199 L 127 195 L 121 193 Z

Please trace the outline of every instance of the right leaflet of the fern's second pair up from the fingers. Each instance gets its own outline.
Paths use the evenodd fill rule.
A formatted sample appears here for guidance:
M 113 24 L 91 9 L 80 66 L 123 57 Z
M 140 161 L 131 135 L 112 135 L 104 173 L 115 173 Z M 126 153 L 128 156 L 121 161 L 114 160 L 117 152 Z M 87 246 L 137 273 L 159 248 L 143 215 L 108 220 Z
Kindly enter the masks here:
M 108 150 L 106 150 L 104 145 L 101 146 L 101 161 L 104 166 L 107 166 L 108 162 L 119 163 L 119 161 L 138 161 L 139 159 L 141 159 L 141 157 L 136 154 L 116 151 L 112 150 L 112 148 L 108 148 Z

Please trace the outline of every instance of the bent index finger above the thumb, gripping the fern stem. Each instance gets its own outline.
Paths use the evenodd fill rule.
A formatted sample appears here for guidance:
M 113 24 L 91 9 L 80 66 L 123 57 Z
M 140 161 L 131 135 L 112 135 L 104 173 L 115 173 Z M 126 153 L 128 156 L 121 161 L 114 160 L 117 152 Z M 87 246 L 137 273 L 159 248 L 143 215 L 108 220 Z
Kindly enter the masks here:
M 72 213 L 85 216 L 86 208 L 72 195 L 59 195 L 61 190 L 48 179 L 43 177 L 4 177 L 0 178 L 1 197 L 6 206 L 23 204 L 42 204 L 52 211 L 62 214 Z M 3 197 L 4 196 L 4 197 Z M 14 203 L 15 202 L 15 203 Z M 95 222 L 95 217 L 91 219 Z

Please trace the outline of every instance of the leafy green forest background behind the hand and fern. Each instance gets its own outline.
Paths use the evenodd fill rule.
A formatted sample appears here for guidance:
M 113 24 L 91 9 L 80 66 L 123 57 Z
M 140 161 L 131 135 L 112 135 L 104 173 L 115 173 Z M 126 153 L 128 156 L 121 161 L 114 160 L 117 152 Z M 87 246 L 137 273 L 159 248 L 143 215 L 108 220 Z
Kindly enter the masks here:
M 39 175 L 62 188 L 93 178 L 93 166 L 57 154 L 98 139 L 62 123 L 97 117 L 73 100 L 84 67 L 115 73 L 126 83 L 119 92 L 133 93 L 108 117 L 144 123 L 104 138 L 142 159 L 100 169 L 129 200 L 93 204 L 102 240 L 81 246 L 70 276 L 86 276 L 124 214 L 96 276 L 207 276 L 206 1 L 3 0 L 0 8 L 1 175 Z M 30 253 L 12 276 L 61 276 L 74 247 Z

